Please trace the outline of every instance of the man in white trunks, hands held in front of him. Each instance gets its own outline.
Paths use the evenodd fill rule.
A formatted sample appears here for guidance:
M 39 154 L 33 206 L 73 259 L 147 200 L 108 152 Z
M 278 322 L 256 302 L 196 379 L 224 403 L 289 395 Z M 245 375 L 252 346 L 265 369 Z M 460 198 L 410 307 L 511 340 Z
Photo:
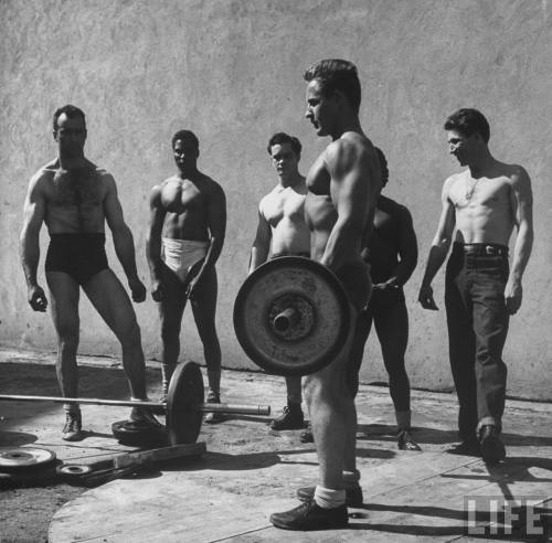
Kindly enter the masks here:
M 159 302 L 162 341 L 162 395 L 180 353 L 185 302 L 193 318 L 208 369 L 208 402 L 221 402 L 221 345 L 215 328 L 215 263 L 226 231 L 226 199 L 221 185 L 198 170 L 199 141 L 190 130 L 172 137 L 178 173 L 153 187 L 146 254 L 151 296 Z M 220 422 L 216 413 L 206 423 Z

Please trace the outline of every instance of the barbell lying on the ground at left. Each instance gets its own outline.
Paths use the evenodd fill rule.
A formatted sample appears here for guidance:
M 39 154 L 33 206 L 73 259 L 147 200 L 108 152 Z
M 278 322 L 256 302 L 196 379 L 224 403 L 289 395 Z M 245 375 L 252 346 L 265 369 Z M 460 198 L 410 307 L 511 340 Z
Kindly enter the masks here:
M 267 405 L 203 403 L 203 377 L 201 375 L 199 364 L 195 362 L 185 362 L 183 364 L 179 364 L 174 369 L 169 383 L 167 404 L 163 402 L 135 402 L 128 400 L 100 400 L 62 396 L 22 396 L 10 394 L 0 394 L 0 401 L 54 402 L 63 404 L 78 403 L 93 405 L 116 405 L 121 407 L 163 408 L 166 409 L 166 433 L 169 445 L 195 443 L 201 430 L 203 413 L 264 416 L 270 414 L 270 407 Z

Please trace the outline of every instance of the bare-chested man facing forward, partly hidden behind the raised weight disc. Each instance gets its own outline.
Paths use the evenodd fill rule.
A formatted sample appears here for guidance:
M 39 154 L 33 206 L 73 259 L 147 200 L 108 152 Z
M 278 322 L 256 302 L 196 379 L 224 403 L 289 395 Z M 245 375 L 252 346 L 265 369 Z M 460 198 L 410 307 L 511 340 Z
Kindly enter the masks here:
M 305 224 L 305 196 L 307 184 L 299 173 L 301 143 L 284 132 L 275 134 L 268 141 L 268 155 L 278 175 L 278 184 L 258 205 L 258 226 L 251 249 L 250 274 L 272 257 L 310 256 L 310 233 Z M 275 418 L 275 430 L 304 427 L 301 409 L 301 377 L 286 377 L 287 406 Z

